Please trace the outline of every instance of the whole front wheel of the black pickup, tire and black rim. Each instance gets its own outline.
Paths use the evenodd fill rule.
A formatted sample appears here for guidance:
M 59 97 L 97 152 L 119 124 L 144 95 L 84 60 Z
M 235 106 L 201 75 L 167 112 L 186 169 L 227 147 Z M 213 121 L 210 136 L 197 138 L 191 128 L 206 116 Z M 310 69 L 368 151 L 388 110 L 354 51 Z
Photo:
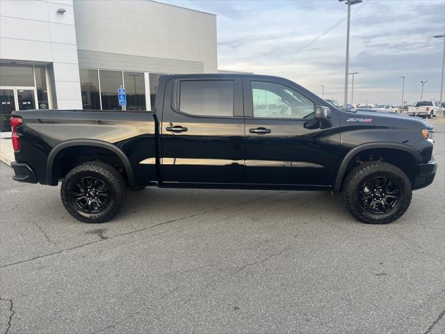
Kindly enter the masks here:
M 351 170 L 343 184 L 346 209 L 359 221 L 387 224 L 410 206 L 411 182 L 400 168 L 371 161 Z

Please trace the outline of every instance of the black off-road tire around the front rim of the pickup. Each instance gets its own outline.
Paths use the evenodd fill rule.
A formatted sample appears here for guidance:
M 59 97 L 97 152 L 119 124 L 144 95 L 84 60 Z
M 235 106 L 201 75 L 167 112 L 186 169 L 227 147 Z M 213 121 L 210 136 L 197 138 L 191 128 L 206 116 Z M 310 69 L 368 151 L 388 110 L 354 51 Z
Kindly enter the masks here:
M 387 176 L 398 183 L 400 199 L 386 214 L 371 214 L 359 201 L 359 191 L 373 177 Z M 346 209 L 359 221 L 368 224 L 387 224 L 400 218 L 410 206 L 412 187 L 410 179 L 400 168 L 383 161 L 371 161 L 361 164 L 350 171 L 343 183 L 343 201 Z

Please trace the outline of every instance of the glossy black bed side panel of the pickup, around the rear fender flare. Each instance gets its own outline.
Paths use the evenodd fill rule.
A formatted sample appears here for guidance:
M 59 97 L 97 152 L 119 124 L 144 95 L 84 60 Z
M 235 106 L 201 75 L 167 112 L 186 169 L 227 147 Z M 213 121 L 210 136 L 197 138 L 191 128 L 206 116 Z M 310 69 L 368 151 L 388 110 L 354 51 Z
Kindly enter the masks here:
M 47 159 L 57 145 L 74 139 L 111 143 L 128 157 L 135 179 L 156 180 L 155 165 L 141 165 L 155 159 L 155 116 L 147 111 L 14 111 L 23 125 L 17 129 L 22 143 L 17 162 L 33 168 L 40 183 L 47 184 Z

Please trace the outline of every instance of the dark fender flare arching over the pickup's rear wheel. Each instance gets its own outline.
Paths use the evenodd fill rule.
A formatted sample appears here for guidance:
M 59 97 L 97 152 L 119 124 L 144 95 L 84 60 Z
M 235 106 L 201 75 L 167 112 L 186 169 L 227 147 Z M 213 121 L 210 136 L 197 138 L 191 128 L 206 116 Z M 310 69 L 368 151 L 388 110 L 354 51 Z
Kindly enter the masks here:
M 49 152 L 48 159 L 47 159 L 47 183 L 51 186 L 56 186 L 57 183 L 54 184 L 53 182 L 53 166 L 54 161 L 57 157 L 57 154 L 59 154 L 62 150 L 65 148 L 71 148 L 73 146 L 94 146 L 97 148 L 105 148 L 107 150 L 112 151 L 116 155 L 118 155 L 119 159 L 122 161 L 122 164 L 124 164 L 125 172 L 127 172 L 129 184 L 134 184 L 134 173 L 133 168 L 131 167 L 130 161 L 120 148 L 117 146 L 107 143 L 106 141 L 99 141 L 95 139 L 70 139 L 68 141 L 63 141 L 62 143 L 58 143 L 54 148 L 52 148 L 51 152 Z

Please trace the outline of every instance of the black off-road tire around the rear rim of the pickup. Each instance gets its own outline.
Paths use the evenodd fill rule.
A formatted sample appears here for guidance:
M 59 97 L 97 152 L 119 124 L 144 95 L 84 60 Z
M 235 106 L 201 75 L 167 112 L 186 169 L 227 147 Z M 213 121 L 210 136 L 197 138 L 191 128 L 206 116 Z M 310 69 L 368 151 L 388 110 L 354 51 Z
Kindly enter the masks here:
M 76 206 L 72 189 L 82 177 L 95 177 L 108 187 L 109 201 L 101 212 L 86 213 Z M 113 218 L 124 205 L 126 191 L 127 185 L 118 170 L 108 164 L 92 161 L 76 166 L 67 173 L 60 188 L 60 197 L 67 212 L 77 220 L 83 223 L 104 223 Z

